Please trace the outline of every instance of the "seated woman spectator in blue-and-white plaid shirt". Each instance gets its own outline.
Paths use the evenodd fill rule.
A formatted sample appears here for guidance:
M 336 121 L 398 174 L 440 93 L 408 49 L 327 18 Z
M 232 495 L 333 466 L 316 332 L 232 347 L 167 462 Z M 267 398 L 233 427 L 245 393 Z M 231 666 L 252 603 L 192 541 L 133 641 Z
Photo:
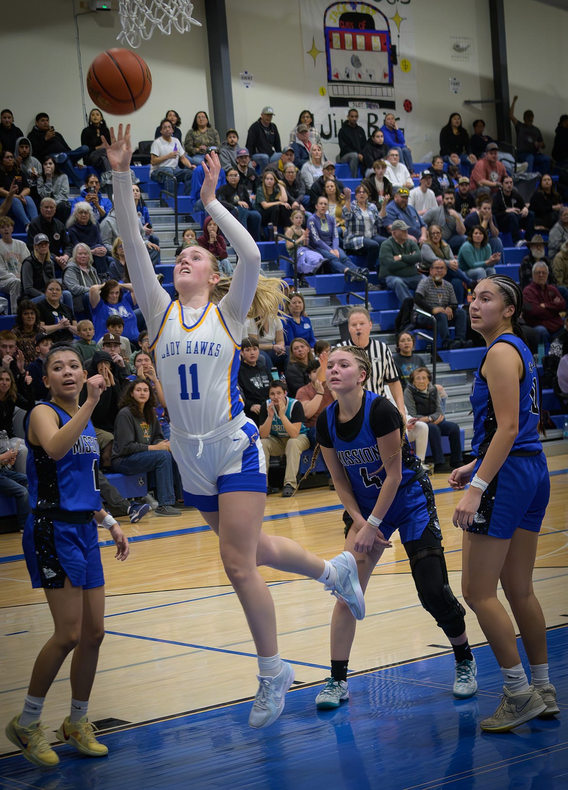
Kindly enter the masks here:
M 379 250 L 382 243 L 386 242 L 386 235 L 381 232 L 386 204 L 383 204 L 379 212 L 377 206 L 369 201 L 369 190 L 363 184 L 355 189 L 355 203 L 351 201 L 351 190 L 344 190 L 344 195 L 344 249 L 353 250 L 357 255 L 367 254 L 367 269 L 376 269 Z M 376 285 L 369 284 L 369 290 L 379 289 Z

